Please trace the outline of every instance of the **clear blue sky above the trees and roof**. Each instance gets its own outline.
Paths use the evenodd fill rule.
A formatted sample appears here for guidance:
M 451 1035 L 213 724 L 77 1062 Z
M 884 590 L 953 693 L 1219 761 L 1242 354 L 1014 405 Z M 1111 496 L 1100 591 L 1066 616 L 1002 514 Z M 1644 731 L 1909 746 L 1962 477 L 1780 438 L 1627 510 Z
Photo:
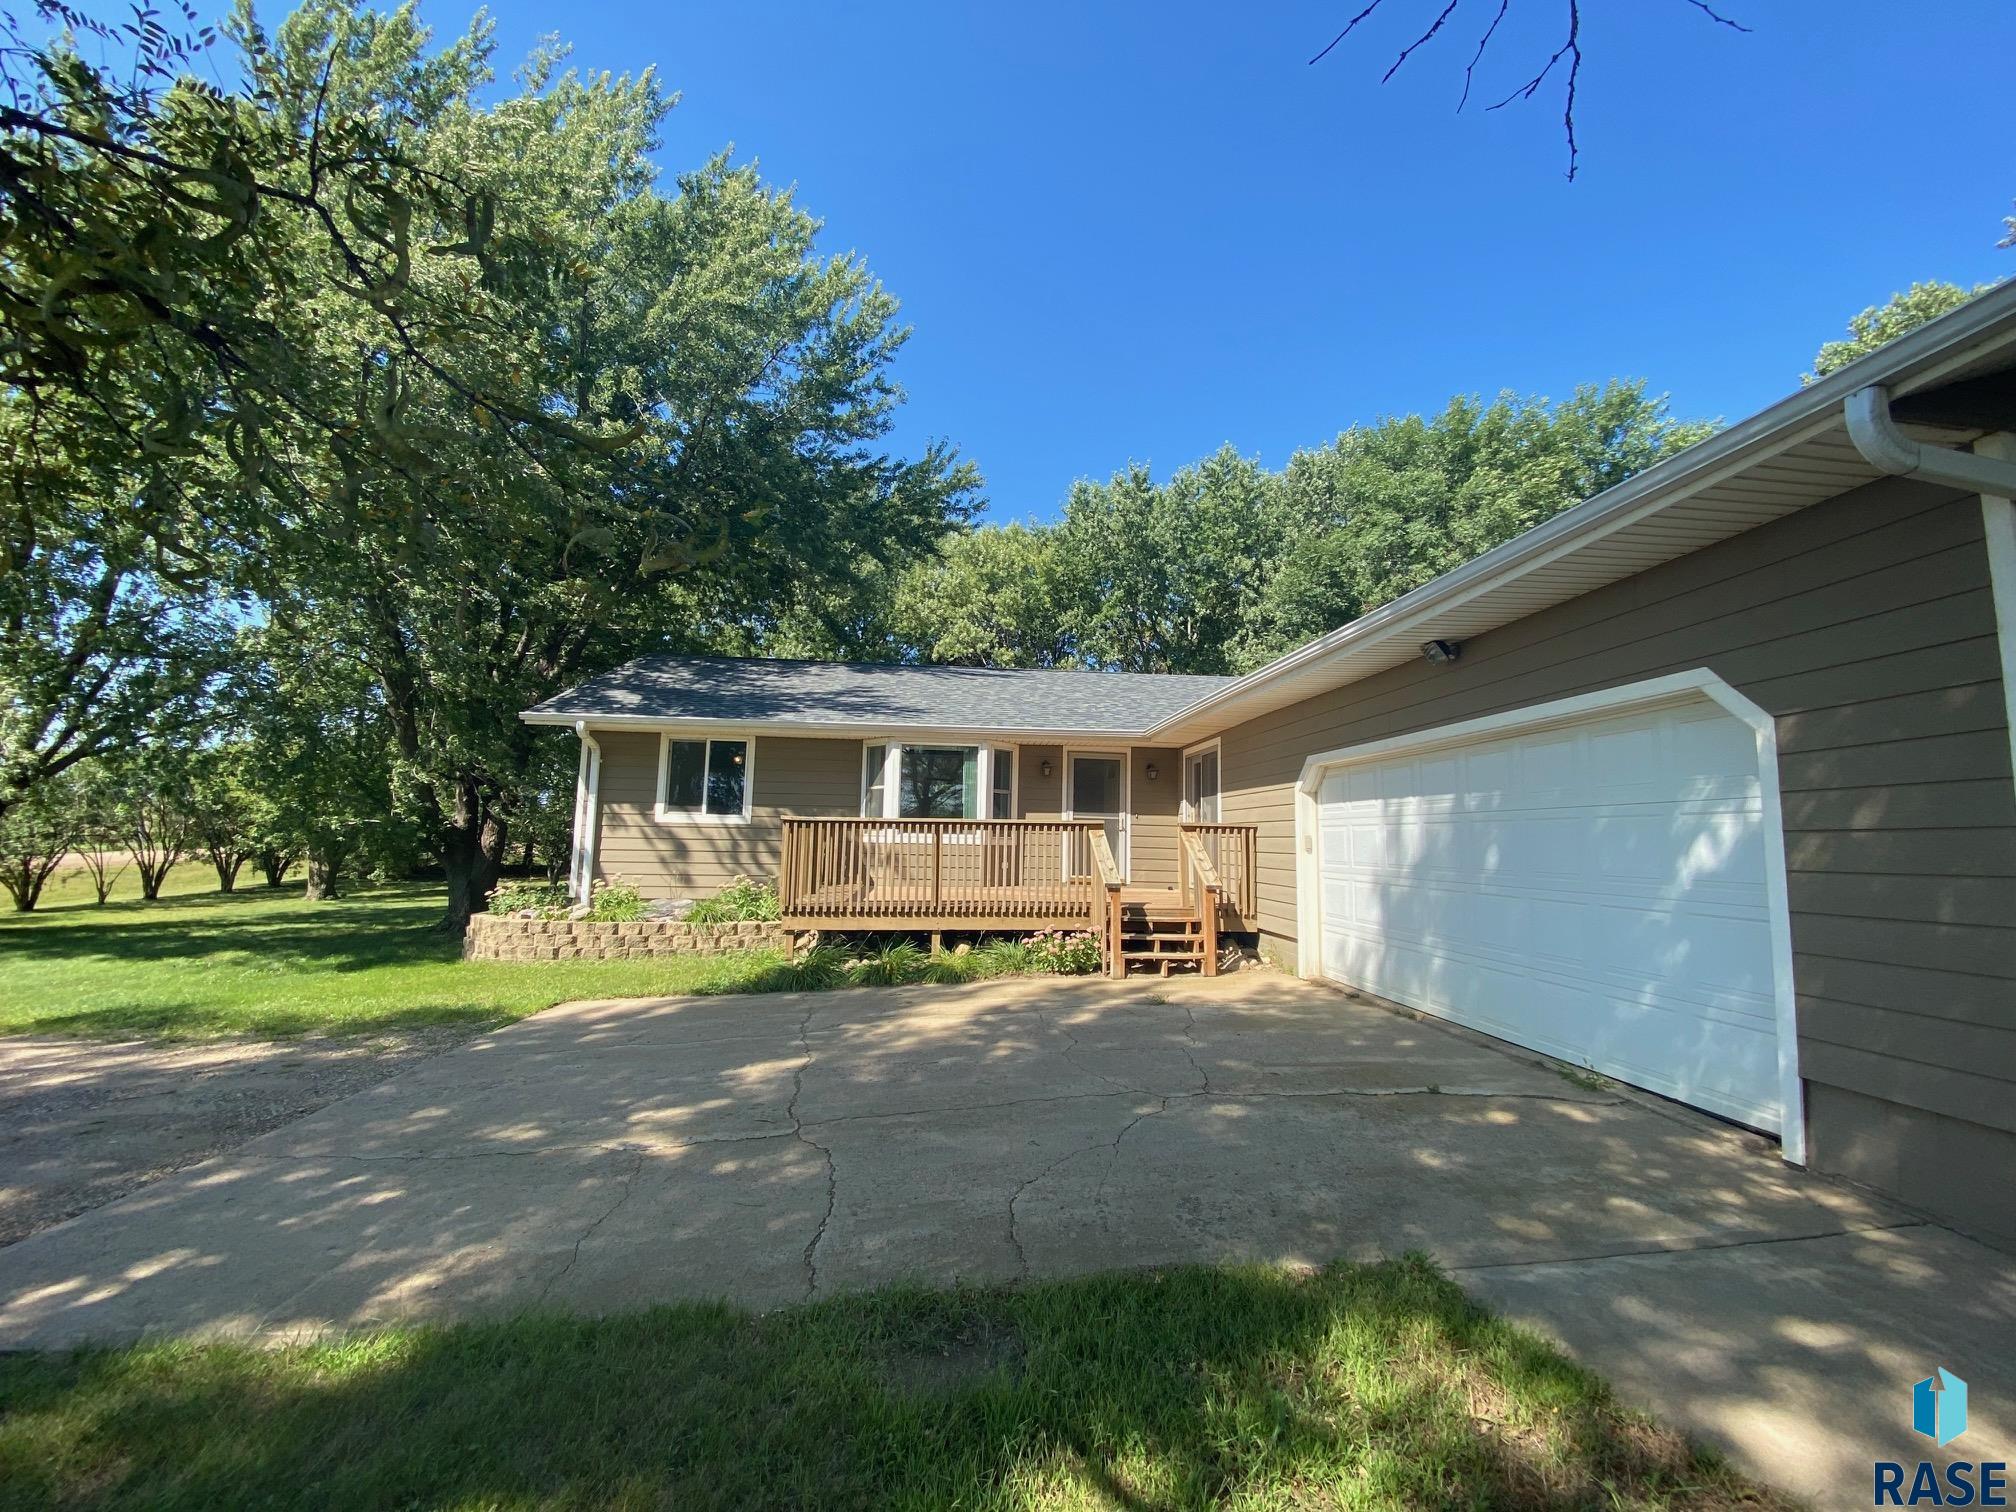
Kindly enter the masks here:
M 734 143 L 859 250 L 915 325 L 899 446 L 950 437 L 996 518 L 1073 478 L 1224 442 L 1282 462 L 1458 391 L 1645 377 L 1738 419 L 1913 278 L 2016 272 L 2016 6 L 1583 0 L 1581 175 L 1558 42 L 1512 14 L 1347 4 L 502 0 L 500 62 L 558 30 L 681 91 L 667 169 Z M 1391 12 L 1391 14 L 1389 14 Z M 448 32 L 464 14 L 427 0 Z

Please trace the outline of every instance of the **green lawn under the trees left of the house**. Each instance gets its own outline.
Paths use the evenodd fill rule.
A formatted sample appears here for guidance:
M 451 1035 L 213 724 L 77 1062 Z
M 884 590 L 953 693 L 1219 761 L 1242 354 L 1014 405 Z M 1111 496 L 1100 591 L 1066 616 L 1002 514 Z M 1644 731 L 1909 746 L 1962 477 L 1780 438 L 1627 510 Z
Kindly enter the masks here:
M 131 883 L 129 883 L 131 887 Z M 298 887 L 218 893 L 208 867 L 169 895 L 95 907 L 83 873 L 34 913 L 0 915 L 0 1034 L 202 1038 L 502 1024 L 571 998 L 750 992 L 768 954 L 635 962 L 464 962 L 433 931 L 437 887 L 359 889 L 302 903 Z

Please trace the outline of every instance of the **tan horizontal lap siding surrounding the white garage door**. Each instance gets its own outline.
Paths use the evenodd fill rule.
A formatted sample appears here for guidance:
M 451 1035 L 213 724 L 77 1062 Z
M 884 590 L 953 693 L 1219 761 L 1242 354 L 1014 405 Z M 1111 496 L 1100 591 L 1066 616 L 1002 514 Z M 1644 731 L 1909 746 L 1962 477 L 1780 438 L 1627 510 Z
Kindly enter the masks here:
M 1988 556 L 1980 502 L 1925 484 L 1859 488 L 1478 635 L 1454 667 L 1228 730 L 1224 808 L 1260 825 L 1262 929 L 1296 929 L 1306 756 L 1691 667 L 1778 720 L 1800 1064 L 1855 1095 L 1812 1107 L 2016 1129 L 2016 792 Z

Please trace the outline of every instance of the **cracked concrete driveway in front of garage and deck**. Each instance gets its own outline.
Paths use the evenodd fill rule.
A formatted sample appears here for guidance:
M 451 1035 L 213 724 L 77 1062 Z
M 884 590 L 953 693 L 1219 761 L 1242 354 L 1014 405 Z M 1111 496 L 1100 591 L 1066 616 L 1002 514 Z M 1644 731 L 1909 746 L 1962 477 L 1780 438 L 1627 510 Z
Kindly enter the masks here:
M 2008 1421 L 2006 1256 L 1270 972 L 556 1008 L 0 1250 L 0 1349 L 1403 1250 L 1794 1490 Z

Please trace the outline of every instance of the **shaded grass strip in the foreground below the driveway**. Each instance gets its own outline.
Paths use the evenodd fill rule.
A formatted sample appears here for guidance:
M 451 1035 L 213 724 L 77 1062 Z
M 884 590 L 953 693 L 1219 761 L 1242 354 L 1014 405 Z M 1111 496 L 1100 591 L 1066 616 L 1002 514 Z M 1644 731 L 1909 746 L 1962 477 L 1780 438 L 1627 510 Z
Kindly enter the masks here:
M 1778 1506 L 1427 1262 L 0 1357 L 0 1508 Z

